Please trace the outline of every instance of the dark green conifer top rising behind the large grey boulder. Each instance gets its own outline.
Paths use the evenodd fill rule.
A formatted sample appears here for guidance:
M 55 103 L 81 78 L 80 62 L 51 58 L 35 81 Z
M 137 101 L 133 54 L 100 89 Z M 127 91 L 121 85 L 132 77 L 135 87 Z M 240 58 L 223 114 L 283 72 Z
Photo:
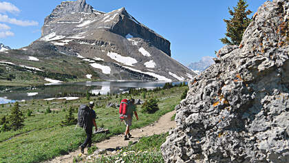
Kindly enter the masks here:
M 233 7 L 234 11 L 228 8 L 228 12 L 233 18 L 224 19 L 226 23 L 227 33 L 226 37 L 220 39 L 222 43 L 226 45 L 239 45 L 242 41 L 242 36 L 251 22 L 251 19 L 247 15 L 251 14 L 250 10 L 246 11 L 248 4 L 246 0 L 239 0 L 237 7 Z

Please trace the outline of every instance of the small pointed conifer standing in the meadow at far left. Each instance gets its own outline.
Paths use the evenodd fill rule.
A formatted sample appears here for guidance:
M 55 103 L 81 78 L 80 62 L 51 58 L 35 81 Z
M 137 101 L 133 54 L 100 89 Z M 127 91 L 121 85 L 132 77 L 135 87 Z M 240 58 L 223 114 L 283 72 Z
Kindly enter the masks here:
M 14 107 L 11 110 L 11 114 L 8 117 L 8 122 L 10 123 L 10 128 L 16 131 L 24 127 L 24 116 L 21 110 L 19 109 L 19 103 L 15 102 Z

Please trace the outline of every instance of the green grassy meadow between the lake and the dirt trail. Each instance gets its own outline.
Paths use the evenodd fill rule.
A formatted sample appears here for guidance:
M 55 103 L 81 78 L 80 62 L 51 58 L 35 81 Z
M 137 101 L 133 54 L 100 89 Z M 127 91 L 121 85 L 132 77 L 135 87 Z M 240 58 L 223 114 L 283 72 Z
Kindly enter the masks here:
M 164 94 L 161 91 L 148 92 L 146 97 L 158 97 L 158 106 L 160 110 L 156 113 L 142 113 L 141 105 L 137 106 L 139 120 L 133 119 L 131 129 L 147 126 L 155 122 L 160 116 L 173 111 L 175 105 L 180 102 L 180 95 L 186 87 L 173 87 L 165 89 Z M 173 92 L 173 93 L 171 93 Z M 101 100 L 98 100 L 100 99 Z M 105 107 L 108 102 L 119 103 L 119 97 L 116 96 L 100 96 L 92 97 L 99 107 L 94 110 L 97 114 L 96 123 L 98 126 L 109 129 L 108 134 L 97 134 L 93 137 L 93 142 L 100 142 L 113 135 L 123 133 L 125 125 L 119 122 L 118 108 Z M 129 96 L 122 96 L 129 98 Z M 141 98 L 141 96 L 133 96 L 133 98 Z M 69 107 L 75 109 L 74 116 L 77 116 L 77 109 L 81 104 L 87 104 L 89 100 L 80 98 L 79 100 L 30 100 L 20 102 L 20 109 L 25 118 L 25 127 L 18 131 L 7 131 L 0 133 L 0 162 L 41 162 L 52 159 L 58 155 L 74 151 L 85 140 L 85 132 L 83 129 L 75 126 L 61 127 L 61 121 L 64 120 Z M 47 107 L 50 107 L 52 113 L 45 113 Z M 10 113 L 10 104 L 0 107 L 0 118 Z M 31 116 L 28 110 L 32 111 Z M 63 111 L 66 110 L 66 111 Z M 159 159 L 160 153 L 142 153 L 140 158 L 152 157 Z

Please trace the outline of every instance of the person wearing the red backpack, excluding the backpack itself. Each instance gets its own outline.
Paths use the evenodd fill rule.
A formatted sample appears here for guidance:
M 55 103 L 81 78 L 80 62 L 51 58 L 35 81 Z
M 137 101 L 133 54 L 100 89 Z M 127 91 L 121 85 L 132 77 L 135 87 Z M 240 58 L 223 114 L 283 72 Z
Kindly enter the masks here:
M 129 140 L 131 138 L 131 133 L 129 133 L 129 127 L 131 126 L 131 121 L 133 118 L 133 113 L 136 116 L 136 120 L 138 120 L 138 113 L 136 113 L 136 105 L 134 105 L 134 99 L 131 98 L 127 104 L 127 118 L 125 118 L 125 125 L 127 126 L 127 129 L 125 130 L 125 140 Z M 127 138 L 127 135 L 129 136 Z

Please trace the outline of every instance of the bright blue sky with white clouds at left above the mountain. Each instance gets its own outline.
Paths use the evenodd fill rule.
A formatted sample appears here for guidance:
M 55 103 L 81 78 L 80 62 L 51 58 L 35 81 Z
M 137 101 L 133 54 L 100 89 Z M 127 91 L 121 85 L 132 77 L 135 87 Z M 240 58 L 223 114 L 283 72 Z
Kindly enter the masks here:
M 265 0 L 247 0 L 255 13 Z M 61 0 L 0 0 L 0 43 L 14 49 L 39 39 L 45 17 Z M 95 10 L 110 12 L 125 7 L 138 21 L 171 42 L 171 56 L 183 65 L 215 56 L 224 46 L 228 7 L 237 0 L 87 0 Z M 253 15 L 253 14 L 252 14 Z

